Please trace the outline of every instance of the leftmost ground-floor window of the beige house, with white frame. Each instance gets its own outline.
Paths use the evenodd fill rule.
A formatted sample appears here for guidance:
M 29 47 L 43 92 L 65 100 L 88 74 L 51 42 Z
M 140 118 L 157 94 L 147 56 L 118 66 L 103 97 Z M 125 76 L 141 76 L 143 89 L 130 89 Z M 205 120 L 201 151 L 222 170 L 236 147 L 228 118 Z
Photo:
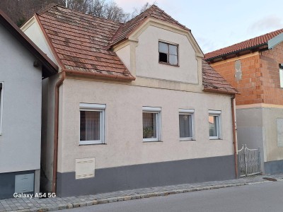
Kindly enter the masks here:
M 104 143 L 105 105 L 80 103 L 79 144 Z

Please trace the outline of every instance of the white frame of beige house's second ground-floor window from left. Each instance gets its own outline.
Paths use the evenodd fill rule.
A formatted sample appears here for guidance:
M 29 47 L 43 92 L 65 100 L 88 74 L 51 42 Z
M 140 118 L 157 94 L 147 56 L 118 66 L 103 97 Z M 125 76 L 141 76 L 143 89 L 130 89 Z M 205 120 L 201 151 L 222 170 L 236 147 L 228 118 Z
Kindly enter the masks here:
M 142 141 L 151 142 L 151 141 L 161 141 L 161 107 L 142 107 L 142 112 L 149 112 L 156 114 L 156 138 L 144 139 L 144 135 L 142 136 Z M 143 120 L 142 120 L 143 121 Z M 143 126 L 144 129 L 144 126 Z

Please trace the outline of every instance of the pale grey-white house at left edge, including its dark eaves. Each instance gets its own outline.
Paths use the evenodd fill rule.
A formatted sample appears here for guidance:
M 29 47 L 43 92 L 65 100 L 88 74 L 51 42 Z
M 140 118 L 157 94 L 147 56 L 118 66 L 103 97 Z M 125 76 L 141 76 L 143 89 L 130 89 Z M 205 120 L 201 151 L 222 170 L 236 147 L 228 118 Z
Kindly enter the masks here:
M 58 67 L 0 10 L 0 199 L 40 187 L 42 78 Z

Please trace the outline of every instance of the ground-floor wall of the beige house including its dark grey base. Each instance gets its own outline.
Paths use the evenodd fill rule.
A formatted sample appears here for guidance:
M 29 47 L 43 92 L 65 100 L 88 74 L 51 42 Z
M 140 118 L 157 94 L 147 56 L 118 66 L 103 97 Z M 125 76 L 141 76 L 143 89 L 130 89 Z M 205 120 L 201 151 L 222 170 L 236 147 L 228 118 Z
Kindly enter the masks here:
M 230 96 L 70 78 L 62 87 L 60 196 L 235 176 Z M 80 102 L 106 105 L 106 144 L 79 146 Z M 161 107 L 161 142 L 143 142 L 143 106 Z M 195 109 L 195 141 L 179 141 L 180 108 Z M 223 139 L 209 140 L 208 110 L 221 110 Z M 75 179 L 79 158 L 96 158 L 96 177 Z

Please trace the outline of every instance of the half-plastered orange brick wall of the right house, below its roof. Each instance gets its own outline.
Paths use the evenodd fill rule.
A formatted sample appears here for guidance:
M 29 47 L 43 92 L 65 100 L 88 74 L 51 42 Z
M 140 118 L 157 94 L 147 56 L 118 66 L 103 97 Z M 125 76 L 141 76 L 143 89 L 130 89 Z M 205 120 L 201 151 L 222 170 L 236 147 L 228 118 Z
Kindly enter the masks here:
M 241 64 L 241 67 L 237 66 Z M 277 118 L 282 118 L 283 90 L 279 64 L 283 63 L 283 43 L 263 52 L 255 52 L 211 64 L 237 88 L 236 116 L 238 148 L 260 148 L 262 171 L 283 170 L 283 147 L 277 146 Z M 241 73 L 237 73 L 238 71 Z

